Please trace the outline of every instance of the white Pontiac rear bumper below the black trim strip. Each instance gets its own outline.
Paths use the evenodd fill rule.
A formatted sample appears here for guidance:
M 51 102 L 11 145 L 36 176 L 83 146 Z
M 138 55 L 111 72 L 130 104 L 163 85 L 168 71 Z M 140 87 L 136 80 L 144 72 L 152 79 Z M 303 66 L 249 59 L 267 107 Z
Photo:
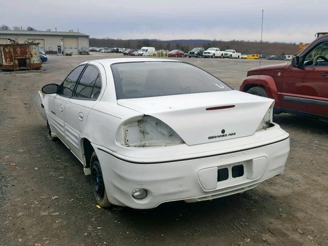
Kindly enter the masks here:
M 101 163 L 110 202 L 150 209 L 163 202 L 209 200 L 252 189 L 283 173 L 290 144 L 286 137 L 269 145 L 233 153 L 158 163 L 134 162 L 118 157 L 104 147 L 94 145 L 94 149 Z M 237 165 L 243 165 L 243 175 L 232 177 L 232 167 Z M 227 180 L 218 181 L 218 169 L 228 170 Z M 137 200 L 132 197 L 132 191 L 138 188 L 148 191 L 147 198 Z

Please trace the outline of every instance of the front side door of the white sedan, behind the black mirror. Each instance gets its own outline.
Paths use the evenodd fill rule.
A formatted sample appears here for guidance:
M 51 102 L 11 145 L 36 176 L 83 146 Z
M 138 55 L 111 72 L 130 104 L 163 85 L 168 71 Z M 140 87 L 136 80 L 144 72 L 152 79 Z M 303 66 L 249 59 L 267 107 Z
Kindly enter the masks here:
M 57 94 L 50 94 L 48 98 L 49 111 L 47 118 L 52 132 L 62 140 L 65 138 L 64 109 L 67 100 L 72 96 L 77 79 L 85 66 L 78 66 L 65 78 Z

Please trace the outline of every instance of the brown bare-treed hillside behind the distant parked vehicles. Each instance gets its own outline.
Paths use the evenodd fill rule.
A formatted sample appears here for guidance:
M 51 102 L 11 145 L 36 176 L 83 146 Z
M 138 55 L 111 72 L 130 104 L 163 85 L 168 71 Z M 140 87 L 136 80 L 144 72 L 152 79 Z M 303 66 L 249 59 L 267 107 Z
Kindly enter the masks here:
M 219 47 L 221 50 L 234 49 L 244 54 L 259 54 L 260 43 L 257 41 L 245 40 L 208 40 L 208 39 L 111 39 L 111 38 L 90 38 L 90 47 L 120 47 L 140 49 L 142 46 L 155 47 L 157 50 L 180 49 L 188 52 L 194 47 Z M 298 45 L 295 43 L 263 42 L 262 54 L 295 54 L 298 51 Z

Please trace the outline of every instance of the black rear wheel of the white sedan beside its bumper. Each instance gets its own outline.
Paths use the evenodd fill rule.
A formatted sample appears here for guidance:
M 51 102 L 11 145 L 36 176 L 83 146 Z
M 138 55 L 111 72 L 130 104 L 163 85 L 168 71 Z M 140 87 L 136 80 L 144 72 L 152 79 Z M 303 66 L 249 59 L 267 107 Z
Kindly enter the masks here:
M 103 172 L 101 172 L 100 162 L 95 151 L 93 151 L 92 153 L 90 163 L 90 176 L 93 194 L 100 207 L 109 208 L 111 207 L 112 203 L 110 203 L 108 200 L 103 178 Z

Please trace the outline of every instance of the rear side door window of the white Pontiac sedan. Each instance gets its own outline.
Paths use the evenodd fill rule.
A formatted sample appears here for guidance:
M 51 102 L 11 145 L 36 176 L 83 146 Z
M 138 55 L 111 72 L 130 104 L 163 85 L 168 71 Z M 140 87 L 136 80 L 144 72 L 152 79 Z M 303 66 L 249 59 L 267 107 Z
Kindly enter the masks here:
M 95 99 L 100 94 L 101 78 L 96 67 L 88 65 L 78 81 L 74 97 Z

